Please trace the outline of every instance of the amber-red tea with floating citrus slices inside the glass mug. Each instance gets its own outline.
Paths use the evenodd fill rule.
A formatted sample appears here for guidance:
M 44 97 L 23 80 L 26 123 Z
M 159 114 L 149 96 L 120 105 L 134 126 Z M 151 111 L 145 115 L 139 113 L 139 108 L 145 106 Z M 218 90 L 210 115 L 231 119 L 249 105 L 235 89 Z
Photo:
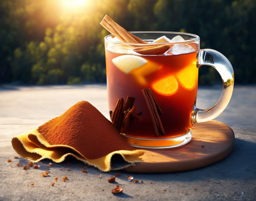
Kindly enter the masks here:
M 141 118 L 122 133 L 130 144 L 166 146 L 170 142 L 160 139 L 176 138 L 190 132 L 193 126 L 191 114 L 197 96 L 198 49 L 197 43 L 175 44 L 161 55 L 140 55 L 133 52 L 129 45 L 106 46 L 109 110 L 114 111 L 118 99 L 126 100 L 130 96 L 135 98 L 135 113 L 142 112 Z M 162 110 L 159 118 L 165 132 L 163 135 L 155 135 L 143 89 L 152 91 Z

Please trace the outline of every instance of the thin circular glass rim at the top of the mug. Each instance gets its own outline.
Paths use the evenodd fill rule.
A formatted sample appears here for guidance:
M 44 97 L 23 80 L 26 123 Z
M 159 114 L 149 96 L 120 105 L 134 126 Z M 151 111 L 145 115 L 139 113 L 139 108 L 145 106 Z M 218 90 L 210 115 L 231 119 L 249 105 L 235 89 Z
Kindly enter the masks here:
M 196 41 L 200 40 L 200 37 L 196 34 L 192 34 L 192 33 L 183 33 L 183 32 L 173 32 L 173 31 L 129 31 L 129 33 L 168 33 L 168 34 L 181 34 L 181 35 L 190 35 L 190 36 L 194 36 L 195 38 L 193 39 L 189 39 L 186 41 L 182 41 L 182 42 L 174 42 L 174 43 L 157 43 L 157 45 L 172 45 L 172 44 L 186 44 L 186 43 L 194 43 Z M 148 44 L 142 44 L 142 43 L 124 43 L 124 42 L 119 42 L 119 41 L 111 41 L 108 40 L 107 37 L 112 36 L 114 34 L 110 34 L 104 37 L 105 42 L 107 43 L 114 43 L 114 44 L 125 44 L 125 45 L 139 45 L 139 46 L 147 46 L 147 45 L 152 45 L 152 43 L 148 43 Z

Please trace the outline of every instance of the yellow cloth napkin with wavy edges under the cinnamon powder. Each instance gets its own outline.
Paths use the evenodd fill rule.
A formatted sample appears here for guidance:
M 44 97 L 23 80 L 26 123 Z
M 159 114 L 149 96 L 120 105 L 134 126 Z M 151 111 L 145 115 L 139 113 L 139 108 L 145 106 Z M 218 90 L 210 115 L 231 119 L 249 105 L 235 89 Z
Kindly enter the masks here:
M 99 168 L 101 171 L 119 170 L 141 161 L 139 156 L 144 154 L 143 150 L 118 150 L 97 159 L 87 159 L 79 151 L 67 145 L 50 145 L 45 138 L 37 131 L 37 128 L 19 134 L 12 138 L 12 146 L 14 150 L 22 157 L 33 162 L 39 162 L 45 158 L 53 160 L 53 162 L 62 162 L 67 156 L 73 156 L 89 165 Z M 119 161 L 116 168 L 111 168 L 111 158 L 114 154 L 120 154 L 123 161 Z

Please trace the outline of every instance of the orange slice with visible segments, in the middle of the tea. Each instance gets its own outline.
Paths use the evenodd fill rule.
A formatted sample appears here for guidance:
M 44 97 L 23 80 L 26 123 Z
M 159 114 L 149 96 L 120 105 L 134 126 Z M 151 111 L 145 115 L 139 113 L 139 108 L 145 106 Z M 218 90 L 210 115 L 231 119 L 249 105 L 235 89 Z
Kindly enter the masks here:
M 153 89 L 159 94 L 164 96 L 171 96 L 178 91 L 178 82 L 175 76 L 171 75 L 159 81 L 156 81 L 152 85 Z

